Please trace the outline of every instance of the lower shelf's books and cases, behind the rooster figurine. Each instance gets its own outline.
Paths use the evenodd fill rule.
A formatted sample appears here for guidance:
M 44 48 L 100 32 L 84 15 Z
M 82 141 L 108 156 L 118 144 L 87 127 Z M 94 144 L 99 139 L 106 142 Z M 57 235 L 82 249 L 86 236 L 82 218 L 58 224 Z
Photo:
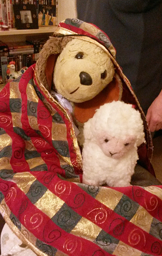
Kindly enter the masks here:
M 26 34 L 26 41 L 0 41 L 0 85 L 7 82 L 8 74 L 18 72 L 23 67 L 30 67 L 36 63 L 48 38 L 48 34 L 43 34 L 43 36 L 42 34 Z M 10 70 L 10 65 L 12 65 L 12 70 Z

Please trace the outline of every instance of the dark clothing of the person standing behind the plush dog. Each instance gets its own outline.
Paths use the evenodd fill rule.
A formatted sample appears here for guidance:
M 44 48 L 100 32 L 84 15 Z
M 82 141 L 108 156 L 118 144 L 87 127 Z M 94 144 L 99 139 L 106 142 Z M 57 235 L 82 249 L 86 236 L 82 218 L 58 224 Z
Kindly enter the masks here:
M 77 12 L 109 36 L 146 114 L 162 89 L 162 0 L 77 0 Z

